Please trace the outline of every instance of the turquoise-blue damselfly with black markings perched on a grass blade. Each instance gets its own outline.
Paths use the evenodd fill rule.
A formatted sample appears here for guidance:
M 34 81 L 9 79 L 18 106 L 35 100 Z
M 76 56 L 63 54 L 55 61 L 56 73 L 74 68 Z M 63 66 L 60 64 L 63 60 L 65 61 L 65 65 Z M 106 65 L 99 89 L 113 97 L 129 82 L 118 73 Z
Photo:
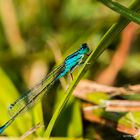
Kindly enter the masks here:
M 31 88 L 25 96 L 20 97 L 12 103 L 9 107 L 11 118 L 0 127 L 0 134 L 16 119 L 16 117 L 26 111 L 29 107 L 32 107 L 54 82 L 64 77 L 68 72 L 72 75 L 75 68 L 82 64 L 82 60 L 88 52 L 88 45 L 86 43 L 82 44 L 80 49 L 69 55 L 61 65 L 56 67 L 39 84 Z

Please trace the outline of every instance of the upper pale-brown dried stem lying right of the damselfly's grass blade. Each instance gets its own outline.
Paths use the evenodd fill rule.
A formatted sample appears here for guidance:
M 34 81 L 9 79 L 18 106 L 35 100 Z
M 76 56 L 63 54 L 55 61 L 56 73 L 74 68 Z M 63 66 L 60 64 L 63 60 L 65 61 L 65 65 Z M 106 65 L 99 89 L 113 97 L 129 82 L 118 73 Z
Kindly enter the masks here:
M 140 85 L 129 85 L 128 87 L 111 87 L 90 80 L 82 80 L 74 91 L 74 96 L 87 100 L 88 94 L 94 92 L 108 93 L 110 97 L 116 95 L 132 95 L 140 93 Z

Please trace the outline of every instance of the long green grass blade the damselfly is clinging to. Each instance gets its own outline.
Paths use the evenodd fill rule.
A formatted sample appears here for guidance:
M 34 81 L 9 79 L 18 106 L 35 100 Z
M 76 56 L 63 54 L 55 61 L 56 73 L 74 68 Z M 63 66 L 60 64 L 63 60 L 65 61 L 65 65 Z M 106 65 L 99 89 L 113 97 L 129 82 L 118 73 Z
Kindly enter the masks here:
M 134 9 L 135 11 L 139 11 L 140 10 L 140 2 L 139 1 L 134 1 L 132 3 L 132 5 L 130 6 L 130 8 Z M 76 85 L 78 84 L 78 82 L 80 81 L 82 76 L 84 75 L 84 73 L 85 73 L 85 71 L 88 67 L 87 64 L 88 63 L 94 63 L 95 60 L 108 47 L 108 45 L 116 38 L 116 36 L 129 24 L 129 22 L 130 22 L 129 20 L 121 17 L 120 20 L 118 21 L 118 23 L 112 25 L 111 28 L 108 30 L 108 32 L 103 36 L 103 38 L 99 42 L 98 46 L 90 54 L 90 56 L 87 58 L 86 62 L 83 64 L 82 68 L 80 69 L 79 73 L 77 74 L 76 78 L 71 83 L 71 85 L 69 86 L 68 90 L 66 91 L 64 97 L 60 101 L 60 104 L 57 107 L 57 109 L 56 109 L 52 119 L 50 120 L 50 123 L 49 123 L 49 125 L 48 125 L 48 127 L 47 127 L 47 129 L 44 133 L 45 137 L 47 137 L 47 138 L 50 137 L 51 131 L 54 127 L 54 124 L 55 124 L 58 116 L 62 112 L 62 109 L 66 105 L 67 101 L 69 100 L 69 98 L 72 94 L 72 91 L 74 90 L 74 88 L 76 87 Z M 92 62 L 91 62 L 91 60 L 92 60 Z

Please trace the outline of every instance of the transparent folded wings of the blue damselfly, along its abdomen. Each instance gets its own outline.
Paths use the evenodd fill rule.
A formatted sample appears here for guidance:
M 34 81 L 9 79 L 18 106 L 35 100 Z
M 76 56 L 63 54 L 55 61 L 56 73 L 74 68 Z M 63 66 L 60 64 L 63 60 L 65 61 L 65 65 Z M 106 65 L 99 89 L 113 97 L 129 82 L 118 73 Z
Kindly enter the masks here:
M 26 95 L 21 96 L 14 103 L 12 103 L 8 112 L 11 117 L 21 114 L 28 108 L 32 107 L 44 93 L 51 87 L 51 85 L 57 80 L 59 74 L 63 71 L 64 64 L 56 67 L 50 74 L 48 74 L 39 84 L 31 88 Z

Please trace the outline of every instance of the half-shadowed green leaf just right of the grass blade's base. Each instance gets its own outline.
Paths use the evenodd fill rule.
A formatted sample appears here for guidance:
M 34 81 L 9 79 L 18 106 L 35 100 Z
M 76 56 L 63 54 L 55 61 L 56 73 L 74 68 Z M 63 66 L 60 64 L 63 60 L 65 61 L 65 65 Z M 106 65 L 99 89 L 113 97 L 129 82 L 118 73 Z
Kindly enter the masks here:
M 78 100 L 74 98 L 69 100 L 52 131 L 52 135 L 59 137 L 81 137 L 83 135 L 80 102 Z

